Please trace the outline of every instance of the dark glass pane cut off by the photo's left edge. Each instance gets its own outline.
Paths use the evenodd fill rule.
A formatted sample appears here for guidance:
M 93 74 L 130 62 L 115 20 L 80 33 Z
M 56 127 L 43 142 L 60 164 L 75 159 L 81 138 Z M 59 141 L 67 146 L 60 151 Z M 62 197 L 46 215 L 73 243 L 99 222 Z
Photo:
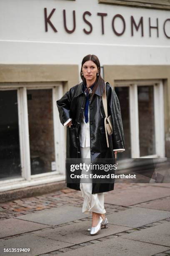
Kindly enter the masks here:
M 0 91 L 0 179 L 20 176 L 17 90 Z

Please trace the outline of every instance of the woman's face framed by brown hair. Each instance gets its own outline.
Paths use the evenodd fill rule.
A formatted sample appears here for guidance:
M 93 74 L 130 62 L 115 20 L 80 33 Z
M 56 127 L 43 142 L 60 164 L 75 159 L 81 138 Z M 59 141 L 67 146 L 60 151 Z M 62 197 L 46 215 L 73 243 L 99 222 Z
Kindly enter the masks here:
M 82 65 L 82 73 L 86 81 L 94 81 L 97 75 L 97 65 L 93 61 L 86 61 Z

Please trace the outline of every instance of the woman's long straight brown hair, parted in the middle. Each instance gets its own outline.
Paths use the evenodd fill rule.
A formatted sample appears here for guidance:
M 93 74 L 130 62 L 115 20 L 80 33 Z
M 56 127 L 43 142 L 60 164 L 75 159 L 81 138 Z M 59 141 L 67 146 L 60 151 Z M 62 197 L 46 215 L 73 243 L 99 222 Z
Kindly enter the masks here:
M 94 84 L 94 87 L 93 87 L 93 90 L 92 90 L 92 94 L 91 94 L 91 97 L 90 97 L 90 98 L 92 99 L 92 97 L 94 96 L 95 91 L 96 91 L 96 89 L 97 89 L 98 86 L 99 86 L 99 88 L 100 88 L 100 93 L 103 91 L 103 87 L 104 87 L 104 82 L 105 82 L 105 81 L 104 81 L 104 79 L 102 79 L 102 77 L 101 77 L 101 75 L 100 75 L 100 61 L 99 61 L 99 59 L 98 59 L 97 56 L 94 55 L 94 54 L 88 54 L 88 55 L 86 55 L 86 56 L 82 59 L 80 77 L 81 77 L 83 83 L 86 84 L 86 79 L 85 79 L 85 77 L 84 77 L 83 74 L 82 74 L 82 66 L 83 66 L 83 64 L 84 64 L 86 61 L 90 61 L 90 60 L 93 61 L 93 62 L 96 64 L 97 69 L 98 69 L 98 72 L 99 72 L 99 75 L 98 75 L 98 76 L 96 75 L 95 84 Z M 105 93 L 105 92 L 104 92 L 104 93 Z

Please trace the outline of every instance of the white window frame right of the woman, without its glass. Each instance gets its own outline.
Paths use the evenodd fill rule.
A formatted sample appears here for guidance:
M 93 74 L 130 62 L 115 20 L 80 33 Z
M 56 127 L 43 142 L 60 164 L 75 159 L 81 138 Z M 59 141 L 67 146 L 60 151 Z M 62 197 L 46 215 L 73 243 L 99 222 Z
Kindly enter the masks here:
M 153 85 L 154 87 L 154 120 L 155 120 L 155 151 L 156 154 L 140 156 L 139 118 L 138 118 L 138 86 Z M 131 158 L 165 158 L 164 130 L 164 99 L 163 82 L 157 80 L 117 80 L 114 87 L 129 87 L 130 102 L 130 140 Z M 160 102 L 160 105 L 156 105 Z

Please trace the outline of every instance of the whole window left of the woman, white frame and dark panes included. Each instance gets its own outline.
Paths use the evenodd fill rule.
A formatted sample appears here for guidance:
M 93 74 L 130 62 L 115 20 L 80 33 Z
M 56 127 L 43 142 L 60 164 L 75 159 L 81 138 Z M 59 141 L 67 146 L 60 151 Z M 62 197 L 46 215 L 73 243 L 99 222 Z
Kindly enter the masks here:
M 62 95 L 60 82 L 0 85 L 0 182 L 64 173 Z

